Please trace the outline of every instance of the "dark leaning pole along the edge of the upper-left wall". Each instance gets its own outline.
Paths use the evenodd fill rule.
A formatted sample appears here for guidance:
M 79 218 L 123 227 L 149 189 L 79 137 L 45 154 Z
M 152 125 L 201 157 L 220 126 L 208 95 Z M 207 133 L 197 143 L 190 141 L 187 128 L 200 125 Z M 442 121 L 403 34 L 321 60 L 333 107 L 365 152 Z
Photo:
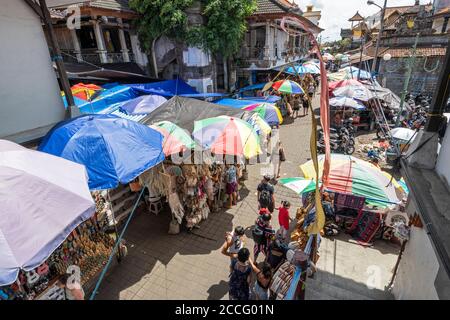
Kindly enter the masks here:
M 62 60 L 61 50 L 59 48 L 58 41 L 53 30 L 50 12 L 48 11 L 45 0 L 39 0 L 39 5 L 41 7 L 42 18 L 44 20 L 45 28 L 47 29 L 47 34 L 50 41 L 52 61 L 54 61 L 56 64 L 59 80 L 61 81 L 61 86 L 67 100 L 68 106 L 66 110 L 66 119 L 70 119 L 72 117 L 72 109 L 76 108 L 75 101 L 73 99 L 72 90 L 70 89 L 70 83 L 69 79 L 67 78 L 66 68 Z

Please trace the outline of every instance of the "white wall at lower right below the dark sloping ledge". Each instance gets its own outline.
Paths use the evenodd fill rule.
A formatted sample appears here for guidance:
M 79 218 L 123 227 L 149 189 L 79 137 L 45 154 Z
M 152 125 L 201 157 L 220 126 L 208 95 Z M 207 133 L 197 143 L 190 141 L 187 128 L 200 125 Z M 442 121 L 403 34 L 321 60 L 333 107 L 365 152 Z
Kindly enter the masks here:
M 438 300 L 434 282 L 439 262 L 426 230 L 412 227 L 392 293 L 398 300 Z

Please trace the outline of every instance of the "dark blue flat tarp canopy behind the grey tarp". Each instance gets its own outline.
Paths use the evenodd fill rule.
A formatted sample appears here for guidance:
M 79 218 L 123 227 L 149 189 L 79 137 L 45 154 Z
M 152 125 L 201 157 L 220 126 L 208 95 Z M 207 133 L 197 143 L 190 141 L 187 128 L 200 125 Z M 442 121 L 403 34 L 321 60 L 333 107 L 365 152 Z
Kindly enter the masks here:
M 141 92 L 142 94 L 156 94 L 169 98 L 178 95 L 192 95 L 199 93 L 181 79 L 143 84 L 129 84 L 128 86 Z

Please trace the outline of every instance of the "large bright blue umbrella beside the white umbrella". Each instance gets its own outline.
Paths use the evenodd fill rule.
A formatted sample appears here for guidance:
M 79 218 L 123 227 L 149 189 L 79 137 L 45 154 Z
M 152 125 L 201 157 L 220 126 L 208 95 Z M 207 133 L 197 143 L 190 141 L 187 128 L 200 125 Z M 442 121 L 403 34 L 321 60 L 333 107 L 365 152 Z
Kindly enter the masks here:
M 39 150 L 86 166 L 89 188 L 125 184 L 164 160 L 163 136 L 110 114 L 82 115 L 56 125 Z

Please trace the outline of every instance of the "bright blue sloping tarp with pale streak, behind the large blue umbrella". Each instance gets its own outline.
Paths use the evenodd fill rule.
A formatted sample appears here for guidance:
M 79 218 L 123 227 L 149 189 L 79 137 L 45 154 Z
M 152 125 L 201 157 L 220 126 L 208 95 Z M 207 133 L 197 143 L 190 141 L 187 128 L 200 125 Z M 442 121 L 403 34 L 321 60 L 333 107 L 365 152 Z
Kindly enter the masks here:
M 128 101 L 140 96 L 140 92 L 126 85 L 117 85 L 111 89 L 103 90 L 91 102 L 84 102 L 79 105 L 81 113 L 98 113 L 111 105 Z

